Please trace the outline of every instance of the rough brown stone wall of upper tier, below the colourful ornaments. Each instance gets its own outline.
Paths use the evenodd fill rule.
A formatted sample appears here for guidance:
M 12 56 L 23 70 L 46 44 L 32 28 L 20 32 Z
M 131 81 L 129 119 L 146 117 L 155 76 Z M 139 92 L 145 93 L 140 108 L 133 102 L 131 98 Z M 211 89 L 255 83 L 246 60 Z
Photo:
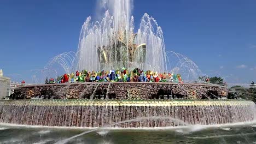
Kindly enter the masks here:
M 63 83 L 16 88 L 11 99 L 219 99 L 228 88 L 168 82 Z

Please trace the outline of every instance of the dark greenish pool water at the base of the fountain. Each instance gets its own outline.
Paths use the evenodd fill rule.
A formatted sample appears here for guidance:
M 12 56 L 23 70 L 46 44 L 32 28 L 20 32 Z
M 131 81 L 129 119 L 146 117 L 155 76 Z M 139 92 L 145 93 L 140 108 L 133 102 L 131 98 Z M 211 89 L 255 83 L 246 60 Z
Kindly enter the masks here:
M 55 143 L 91 129 L 0 125 L 0 143 Z M 67 143 L 256 143 L 256 124 L 170 129 L 105 129 Z

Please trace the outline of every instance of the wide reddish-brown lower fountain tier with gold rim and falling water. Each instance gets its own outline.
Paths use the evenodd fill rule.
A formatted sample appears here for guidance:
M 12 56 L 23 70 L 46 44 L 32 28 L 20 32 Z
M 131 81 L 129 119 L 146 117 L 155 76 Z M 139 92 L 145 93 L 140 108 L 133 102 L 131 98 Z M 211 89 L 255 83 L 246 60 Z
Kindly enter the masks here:
M 250 122 L 247 100 L 2 100 L 0 122 L 55 127 L 152 128 Z

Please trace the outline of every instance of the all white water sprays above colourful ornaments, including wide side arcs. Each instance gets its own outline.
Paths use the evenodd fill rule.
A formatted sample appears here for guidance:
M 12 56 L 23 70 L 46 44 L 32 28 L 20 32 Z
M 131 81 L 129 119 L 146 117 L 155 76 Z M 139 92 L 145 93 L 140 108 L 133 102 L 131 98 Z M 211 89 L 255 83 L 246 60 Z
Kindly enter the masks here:
M 90 16 L 86 19 L 78 51 L 61 53 L 46 65 L 46 69 L 57 69 L 59 66 L 54 65 L 57 63 L 66 74 L 125 67 L 129 71 L 135 68 L 159 73 L 168 71 L 183 75 L 184 80 L 197 80 L 202 75 L 189 58 L 173 51 L 166 52 L 162 29 L 153 17 L 144 14 L 136 30 L 131 16 L 132 0 L 100 0 L 99 5 L 104 8 L 104 16 L 96 22 Z

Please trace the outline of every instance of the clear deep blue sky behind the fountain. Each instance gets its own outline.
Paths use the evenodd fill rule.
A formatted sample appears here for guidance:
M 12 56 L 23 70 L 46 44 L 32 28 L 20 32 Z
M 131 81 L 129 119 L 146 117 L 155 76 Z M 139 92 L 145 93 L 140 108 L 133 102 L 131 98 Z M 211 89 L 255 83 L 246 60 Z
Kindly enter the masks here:
M 189 57 L 203 73 L 232 83 L 256 81 L 256 1 L 134 0 L 136 26 L 144 13 L 162 27 L 167 50 Z M 97 15 L 95 0 L 1 0 L 0 68 L 31 81 L 31 70 L 77 50 L 90 15 Z

